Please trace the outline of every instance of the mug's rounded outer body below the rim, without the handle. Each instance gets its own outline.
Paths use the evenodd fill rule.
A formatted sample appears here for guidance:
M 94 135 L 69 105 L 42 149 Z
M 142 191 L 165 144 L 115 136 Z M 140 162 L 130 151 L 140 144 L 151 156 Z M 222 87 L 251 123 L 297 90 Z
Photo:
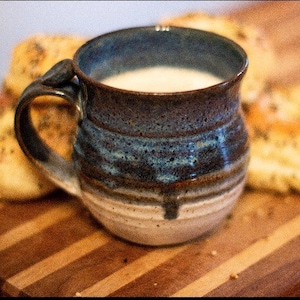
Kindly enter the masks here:
M 168 48 L 174 45 L 172 38 L 168 43 Z M 165 48 L 154 56 L 148 45 L 145 60 L 138 64 L 153 65 L 153 57 L 165 60 Z M 189 47 L 184 49 L 183 66 L 199 61 Z M 230 62 L 237 54 L 225 53 L 226 63 L 216 65 L 209 55 L 202 49 L 202 62 L 197 63 L 211 60 L 211 71 L 223 76 L 240 71 L 244 63 L 239 58 L 237 67 Z M 132 67 L 130 60 L 136 61 L 135 55 L 126 58 Z M 177 60 L 173 56 L 169 63 Z M 233 77 L 200 90 L 145 93 L 102 84 L 91 88 L 89 78 L 79 74 L 84 116 L 73 159 L 83 203 L 110 232 L 140 244 L 177 244 L 215 228 L 231 211 L 243 191 L 249 158 L 239 101 L 242 75 Z

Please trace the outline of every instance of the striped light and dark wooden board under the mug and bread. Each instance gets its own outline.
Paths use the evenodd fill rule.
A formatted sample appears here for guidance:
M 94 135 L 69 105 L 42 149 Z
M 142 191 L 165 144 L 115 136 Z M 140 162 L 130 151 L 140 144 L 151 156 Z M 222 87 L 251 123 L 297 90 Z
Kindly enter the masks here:
M 274 81 L 300 82 L 300 2 L 234 12 L 280 52 Z M 108 234 L 63 192 L 0 202 L 2 296 L 300 296 L 300 195 L 245 191 L 213 234 L 167 248 Z

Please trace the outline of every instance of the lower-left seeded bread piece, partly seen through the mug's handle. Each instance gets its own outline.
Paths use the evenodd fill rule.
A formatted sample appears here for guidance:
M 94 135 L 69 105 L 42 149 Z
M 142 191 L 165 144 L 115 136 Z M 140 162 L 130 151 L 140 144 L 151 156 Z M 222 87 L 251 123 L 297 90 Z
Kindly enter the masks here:
M 1 99 L 0 99 L 1 100 Z M 69 106 L 33 105 L 32 121 L 42 139 L 57 153 L 70 159 L 77 113 Z M 27 201 L 57 189 L 21 150 L 14 131 L 15 107 L 0 113 L 0 200 Z

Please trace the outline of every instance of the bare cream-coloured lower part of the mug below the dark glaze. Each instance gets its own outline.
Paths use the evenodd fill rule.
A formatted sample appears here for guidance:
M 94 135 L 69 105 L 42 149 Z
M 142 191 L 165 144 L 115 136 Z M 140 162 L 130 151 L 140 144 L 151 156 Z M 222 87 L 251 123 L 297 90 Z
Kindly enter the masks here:
M 88 192 L 83 192 L 82 201 L 112 234 L 137 244 L 161 246 L 184 243 L 213 230 L 230 213 L 243 187 L 241 182 L 209 200 L 182 205 L 173 220 L 166 220 L 158 205 L 128 204 Z

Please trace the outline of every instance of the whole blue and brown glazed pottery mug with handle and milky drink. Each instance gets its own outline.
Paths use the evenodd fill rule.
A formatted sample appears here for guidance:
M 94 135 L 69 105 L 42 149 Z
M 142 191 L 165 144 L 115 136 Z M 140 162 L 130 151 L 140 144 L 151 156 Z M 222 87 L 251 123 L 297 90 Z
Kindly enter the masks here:
M 41 171 L 112 234 L 172 245 L 214 230 L 241 195 L 249 140 L 239 99 L 248 66 L 233 41 L 150 26 L 96 37 L 21 95 L 15 131 Z M 30 119 L 40 95 L 79 110 L 72 160 Z

